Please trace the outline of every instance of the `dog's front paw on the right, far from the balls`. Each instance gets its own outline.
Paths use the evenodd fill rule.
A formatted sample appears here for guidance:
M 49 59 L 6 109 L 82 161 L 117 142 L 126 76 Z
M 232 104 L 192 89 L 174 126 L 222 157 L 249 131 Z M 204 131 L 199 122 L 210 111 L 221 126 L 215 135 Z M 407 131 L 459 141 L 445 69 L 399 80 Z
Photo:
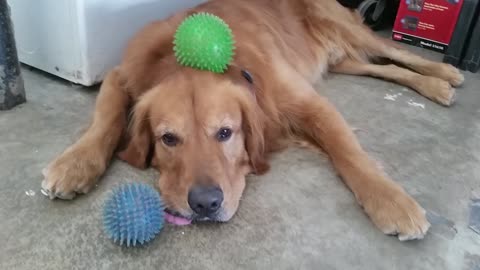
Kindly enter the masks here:
M 361 203 L 375 225 L 400 241 L 422 239 L 430 228 L 425 210 L 403 189 L 393 183 L 366 197 Z

